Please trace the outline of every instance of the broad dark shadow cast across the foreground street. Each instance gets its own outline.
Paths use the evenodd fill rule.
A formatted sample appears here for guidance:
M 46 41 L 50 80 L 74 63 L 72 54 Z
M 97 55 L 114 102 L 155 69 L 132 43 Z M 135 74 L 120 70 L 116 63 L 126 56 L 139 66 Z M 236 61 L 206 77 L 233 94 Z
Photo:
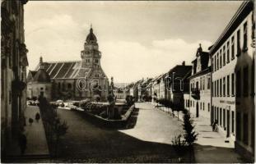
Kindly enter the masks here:
M 131 126 L 136 124 L 138 112 L 134 111 Z M 186 154 L 179 161 L 170 144 L 101 128 L 77 112 L 62 111 L 61 116 L 69 128 L 61 141 L 59 162 L 190 162 Z

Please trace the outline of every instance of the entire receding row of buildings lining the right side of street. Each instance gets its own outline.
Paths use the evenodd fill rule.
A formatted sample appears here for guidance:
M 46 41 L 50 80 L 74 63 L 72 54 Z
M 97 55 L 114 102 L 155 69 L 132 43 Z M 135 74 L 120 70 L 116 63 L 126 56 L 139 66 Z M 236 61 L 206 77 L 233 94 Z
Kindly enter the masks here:
M 138 80 L 119 89 L 119 98 L 165 98 L 207 118 L 209 125 L 217 121 L 226 142 L 254 161 L 254 31 L 254 2 L 245 1 L 207 51 L 199 46 L 192 66 L 183 62 L 165 74 Z

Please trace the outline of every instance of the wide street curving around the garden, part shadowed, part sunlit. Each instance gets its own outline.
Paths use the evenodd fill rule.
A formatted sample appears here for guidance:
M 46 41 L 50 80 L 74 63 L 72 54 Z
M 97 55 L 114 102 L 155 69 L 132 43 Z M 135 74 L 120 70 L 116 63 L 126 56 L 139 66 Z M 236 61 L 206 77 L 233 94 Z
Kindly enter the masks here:
M 178 162 L 170 143 L 181 122 L 147 103 L 137 103 L 136 107 L 139 109 L 133 113 L 127 130 L 100 128 L 87 121 L 81 112 L 58 109 L 69 127 L 61 142 L 61 160 Z

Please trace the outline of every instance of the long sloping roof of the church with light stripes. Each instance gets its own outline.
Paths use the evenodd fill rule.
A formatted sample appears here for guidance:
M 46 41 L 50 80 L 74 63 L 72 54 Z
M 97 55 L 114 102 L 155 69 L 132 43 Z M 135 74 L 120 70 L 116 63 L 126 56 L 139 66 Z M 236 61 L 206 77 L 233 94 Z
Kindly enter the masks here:
M 91 71 L 91 68 L 81 68 L 80 61 L 44 62 L 42 64 L 51 79 L 77 79 L 86 77 Z M 35 71 L 38 71 L 39 68 L 40 65 L 35 68 Z

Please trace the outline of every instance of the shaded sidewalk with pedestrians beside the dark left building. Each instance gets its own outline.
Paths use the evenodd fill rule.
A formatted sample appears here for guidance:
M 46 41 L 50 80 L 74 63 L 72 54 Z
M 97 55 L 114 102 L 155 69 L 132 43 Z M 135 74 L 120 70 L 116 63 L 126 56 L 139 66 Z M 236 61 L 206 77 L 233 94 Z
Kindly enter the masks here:
M 37 106 L 26 107 L 26 126 L 25 134 L 27 139 L 27 148 L 25 156 L 31 155 L 49 155 L 49 148 L 44 132 L 44 125 L 42 119 L 39 122 L 35 121 L 36 112 L 40 113 L 40 109 Z M 29 118 L 32 118 L 34 122 L 32 125 L 29 123 Z

